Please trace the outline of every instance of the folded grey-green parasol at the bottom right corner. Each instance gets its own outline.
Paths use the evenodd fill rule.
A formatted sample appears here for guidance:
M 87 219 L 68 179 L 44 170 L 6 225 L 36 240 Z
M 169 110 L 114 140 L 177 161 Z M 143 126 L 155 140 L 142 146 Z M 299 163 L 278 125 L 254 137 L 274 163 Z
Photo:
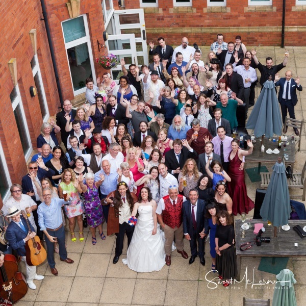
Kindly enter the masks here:
M 276 275 L 276 279 L 272 306 L 297 306 L 294 274 L 289 269 L 284 269 Z

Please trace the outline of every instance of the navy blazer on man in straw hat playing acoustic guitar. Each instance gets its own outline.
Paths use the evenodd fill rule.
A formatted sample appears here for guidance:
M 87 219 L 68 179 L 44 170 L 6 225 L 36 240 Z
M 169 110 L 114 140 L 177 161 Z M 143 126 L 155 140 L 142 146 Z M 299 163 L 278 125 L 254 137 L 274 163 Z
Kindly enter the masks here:
M 26 230 L 28 230 L 27 221 L 21 216 L 20 220 L 22 221 L 23 226 Z M 32 224 L 29 222 L 31 231 L 34 231 Z M 6 231 L 6 238 L 12 247 L 12 249 L 16 250 L 19 256 L 25 256 L 25 242 L 23 239 L 27 237 L 28 233 L 24 233 L 21 230 L 21 227 L 17 225 L 15 222 L 11 221 Z

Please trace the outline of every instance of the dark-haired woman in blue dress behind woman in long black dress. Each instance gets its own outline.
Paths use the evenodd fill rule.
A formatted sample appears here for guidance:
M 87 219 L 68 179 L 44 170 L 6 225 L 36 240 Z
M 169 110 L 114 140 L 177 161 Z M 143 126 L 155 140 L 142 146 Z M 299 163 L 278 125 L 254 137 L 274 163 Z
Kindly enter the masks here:
M 212 257 L 212 270 L 216 270 L 216 229 L 217 229 L 217 213 L 219 209 L 214 202 L 209 202 L 206 206 L 206 218 L 208 219 L 208 228 L 205 228 L 205 234 L 209 233 L 210 254 Z M 215 273 L 216 271 L 214 271 Z

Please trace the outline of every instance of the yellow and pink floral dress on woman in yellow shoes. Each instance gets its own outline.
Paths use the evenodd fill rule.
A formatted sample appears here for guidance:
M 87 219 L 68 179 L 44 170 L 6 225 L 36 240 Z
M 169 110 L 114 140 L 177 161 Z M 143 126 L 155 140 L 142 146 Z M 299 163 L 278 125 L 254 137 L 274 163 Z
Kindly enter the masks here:
M 73 218 L 82 215 L 84 212 L 84 206 L 80 199 L 80 194 L 78 190 L 73 186 L 73 183 L 70 182 L 70 184 L 67 185 L 64 182 L 61 182 L 59 186 L 61 186 L 63 191 L 67 191 L 68 198 L 71 198 L 69 205 L 64 206 L 67 217 Z

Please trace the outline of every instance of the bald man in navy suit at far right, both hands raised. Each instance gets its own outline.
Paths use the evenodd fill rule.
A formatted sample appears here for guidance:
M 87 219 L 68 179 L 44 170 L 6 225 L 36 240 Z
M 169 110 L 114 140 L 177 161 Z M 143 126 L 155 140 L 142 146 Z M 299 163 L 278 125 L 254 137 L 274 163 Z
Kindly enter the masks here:
M 281 105 L 283 124 L 285 127 L 285 118 L 287 116 L 287 110 L 289 117 L 295 119 L 294 107 L 297 104 L 296 90 L 302 91 L 303 88 L 299 84 L 299 77 L 294 80 L 292 78 L 292 71 L 288 70 L 285 73 L 285 78 L 280 78 L 279 74 L 275 74 L 274 80 L 275 86 L 279 86 L 278 102 Z M 285 133 L 287 132 L 288 126 L 285 127 Z M 293 127 L 295 135 L 299 136 L 298 129 Z

